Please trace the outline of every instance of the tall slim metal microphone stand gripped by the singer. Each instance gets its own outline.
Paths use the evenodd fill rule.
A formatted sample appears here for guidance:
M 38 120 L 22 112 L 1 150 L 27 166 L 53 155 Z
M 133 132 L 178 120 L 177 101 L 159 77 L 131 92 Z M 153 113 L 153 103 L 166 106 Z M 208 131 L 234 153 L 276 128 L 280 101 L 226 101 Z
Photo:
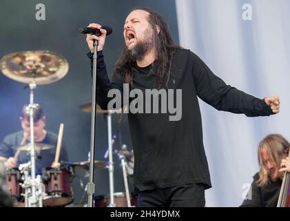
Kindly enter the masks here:
M 93 73 L 92 73 L 92 119 L 91 119 L 91 145 L 90 145 L 90 172 L 87 183 L 87 206 L 93 207 L 94 203 L 94 145 L 96 131 L 96 60 L 99 42 L 94 40 Z

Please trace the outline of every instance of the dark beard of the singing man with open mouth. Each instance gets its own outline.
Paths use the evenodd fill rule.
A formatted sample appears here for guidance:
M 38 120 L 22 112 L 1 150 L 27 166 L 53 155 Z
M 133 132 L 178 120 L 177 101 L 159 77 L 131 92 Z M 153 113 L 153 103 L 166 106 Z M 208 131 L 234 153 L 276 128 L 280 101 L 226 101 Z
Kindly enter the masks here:
M 143 36 L 144 39 L 138 41 L 132 48 L 128 48 L 127 46 L 127 56 L 134 61 L 143 59 L 146 53 L 154 46 L 154 33 L 152 30 L 147 28 Z

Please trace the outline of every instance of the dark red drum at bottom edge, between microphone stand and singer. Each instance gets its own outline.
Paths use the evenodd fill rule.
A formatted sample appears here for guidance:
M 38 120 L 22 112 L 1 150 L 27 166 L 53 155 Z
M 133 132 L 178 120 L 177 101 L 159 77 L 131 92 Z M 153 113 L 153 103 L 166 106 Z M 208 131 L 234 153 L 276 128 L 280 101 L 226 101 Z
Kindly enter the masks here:
M 114 193 L 114 203 L 116 207 L 128 207 L 125 193 Z M 95 207 L 110 206 L 110 195 L 96 195 L 94 197 Z M 135 200 L 131 200 L 131 206 L 137 206 Z

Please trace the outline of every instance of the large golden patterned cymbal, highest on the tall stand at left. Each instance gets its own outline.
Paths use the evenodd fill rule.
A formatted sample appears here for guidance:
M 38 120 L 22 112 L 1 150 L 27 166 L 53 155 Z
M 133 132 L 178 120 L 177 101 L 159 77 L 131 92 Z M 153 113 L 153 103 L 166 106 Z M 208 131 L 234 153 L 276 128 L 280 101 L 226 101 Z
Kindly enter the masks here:
M 14 52 L 2 57 L 0 70 L 24 84 L 50 84 L 68 73 L 68 61 L 48 50 Z

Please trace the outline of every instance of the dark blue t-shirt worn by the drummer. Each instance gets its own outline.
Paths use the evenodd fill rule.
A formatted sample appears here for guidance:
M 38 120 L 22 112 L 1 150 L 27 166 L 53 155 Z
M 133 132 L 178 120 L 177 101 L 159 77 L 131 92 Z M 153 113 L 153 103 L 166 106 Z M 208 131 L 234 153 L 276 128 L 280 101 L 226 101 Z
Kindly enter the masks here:
M 57 144 L 57 135 L 47 131 L 45 139 L 41 142 L 41 144 L 50 144 L 53 148 L 42 151 L 35 151 L 35 165 L 37 170 L 41 170 L 43 168 L 49 168 L 54 162 L 55 152 L 56 152 L 56 144 Z M 23 139 L 23 131 L 19 131 L 17 133 L 12 133 L 7 135 L 3 142 L 0 144 L 0 156 L 1 157 L 13 157 L 17 151 L 17 147 L 20 146 L 21 140 Z M 26 142 L 28 144 L 28 142 Z M 37 143 L 36 143 L 37 144 Z M 30 161 L 30 151 L 21 151 L 18 157 L 18 166 L 19 164 L 27 163 Z M 61 145 L 61 154 L 59 160 L 67 161 L 68 155 L 65 150 L 64 144 Z M 40 173 L 41 171 L 37 171 Z

